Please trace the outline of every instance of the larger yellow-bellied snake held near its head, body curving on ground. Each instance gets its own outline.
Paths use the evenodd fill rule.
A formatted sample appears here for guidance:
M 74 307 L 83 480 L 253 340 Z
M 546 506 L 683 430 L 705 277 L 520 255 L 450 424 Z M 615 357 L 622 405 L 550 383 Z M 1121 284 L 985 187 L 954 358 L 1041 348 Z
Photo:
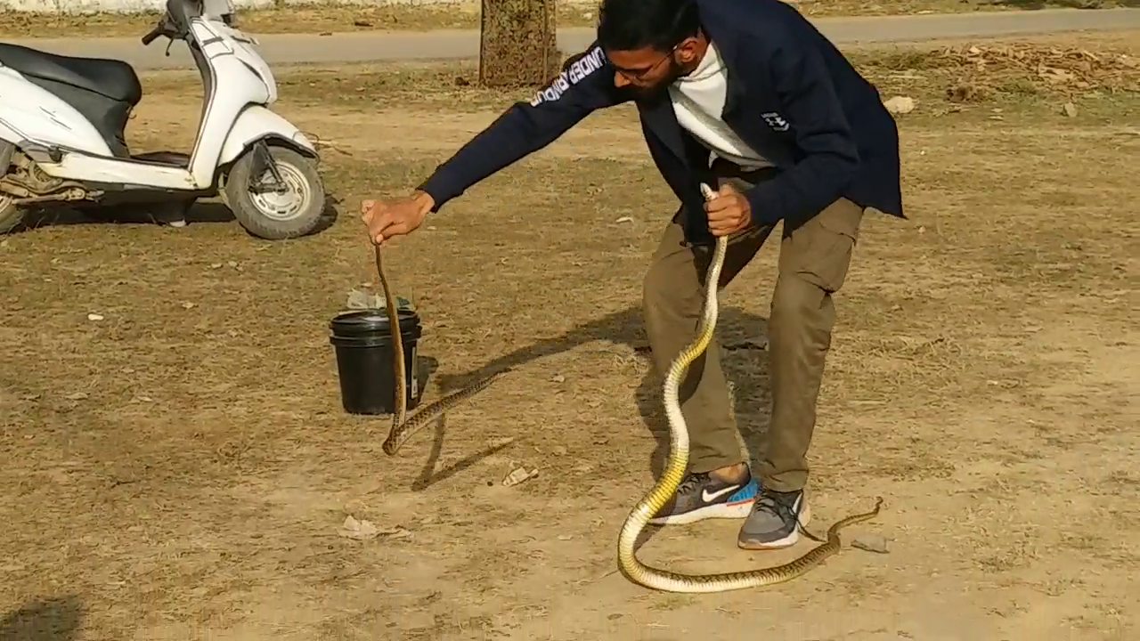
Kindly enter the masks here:
M 716 196 L 707 185 L 701 185 L 701 192 L 706 200 Z M 676 493 L 689 466 L 689 429 L 685 425 L 685 417 L 681 413 L 681 401 L 678 399 L 678 388 L 681 378 L 689 371 L 689 366 L 708 348 L 712 340 L 712 331 L 717 320 L 717 287 L 720 281 L 720 268 L 724 266 L 724 255 L 728 249 L 728 237 L 718 236 L 716 250 L 712 253 L 712 263 L 709 266 L 707 283 L 705 286 L 705 313 L 697 327 L 697 339 L 673 360 L 669 365 L 669 373 L 665 378 L 665 411 L 669 421 L 669 460 L 665 464 L 661 478 L 650 489 L 626 518 L 621 526 L 621 534 L 618 537 L 618 566 L 626 576 L 645 587 L 663 590 L 667 592 L 724 592 L 727 590 L 741 590 L 744 587 L 757 587 L 783 583 L 796 578 L 824 559 L 839 552 L 839 530 L 852 524 L 873 518 L 879 513 L 882 498 L 878 498 L 874 510 L 854 514 L 842 519 L 828 529 L 828 541 L 803 557 L 773 568 L 763 568 L 748 571 L 735 571 L 710 575 L 684 575 L 660 570 L 642 563 L 637 560 L 634 545 L 637 535 L 649 522 L 653 514 L 658 512 Z

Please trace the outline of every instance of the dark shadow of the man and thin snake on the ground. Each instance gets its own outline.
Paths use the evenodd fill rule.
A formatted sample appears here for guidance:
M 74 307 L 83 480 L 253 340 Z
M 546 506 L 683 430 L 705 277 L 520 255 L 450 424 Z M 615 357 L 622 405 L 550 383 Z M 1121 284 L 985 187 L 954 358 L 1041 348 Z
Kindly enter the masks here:
M 644 358 L 650 357 L 649 343 L 645 339 L 640 307 L 626 309 L 617 314 L 603 316 L 592 323 L 576 327 L 561 336 L 539 341 L 526 348 L 487 363 L 479 370 L 458 375 L 441 375 L 438 384 L 440 395 L 449 393 L 465 384 L 488 376 L 505 368 L 514 368 L 547 356 L 560 354 L 580 344 L 594 341 L 625 343 Z M 716 338 L 722 347 L 720 362 L 725 376 L 734 388 L 733 412 L 747 452 L 755 459 L 757 445 L 767 430 L 768 424 L 768 367 L 767 367 L 767 320 L 760 316 L 747 314 L 738 308 L 722 306 L 717 319 Z M 420 365 L 421 376 L 427 372 Z M 650 456 L 649 465 L 657 478 L 665 466 L 669 453 L 669 428 L 665 417 L 661 381 L 662 375 L 650 367 L 636 391 L 637 409 L 645 428 L 654 436 L 657 447 Z M 423 379 L 422 379 L 423 380 Z M 690 425 L 690 431 L 692 425 Z M 440 452 L 443 447 L 443 422 L 435 427 L 434 440 L 427 461 L 412 488 L 425 489 L 446 478 L 449 478 L 480 460 L 507 447 L 499 444 L 471 454 L 462 461 L 435 470 Z M 755 461 L 754 461 L 755 465 Z

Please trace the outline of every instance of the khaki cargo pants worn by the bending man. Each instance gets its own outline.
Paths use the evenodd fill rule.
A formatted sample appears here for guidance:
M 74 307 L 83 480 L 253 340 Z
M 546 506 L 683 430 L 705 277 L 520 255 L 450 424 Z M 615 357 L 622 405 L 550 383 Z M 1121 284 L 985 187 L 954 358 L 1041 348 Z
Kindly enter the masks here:
M 714 167 L 718 180 L 743 192 L 766 173 Z M 768 318 L 772 421 L 760 454 L 759 480 L 777 492 L 803 489 L 815 428 L 815 404 L 836 322 L 831 294 L 847 275 L 863 209 L 840 198 L 796 229 L 784 229 Z M 694 338 L 712 248 L 684 242 L 679 213 L 669 225 L 645 274 L 643 311 L 660 375 Z M 728 243 L 720 286 L 756 255 L 774 226 L 754 227 Z M 682 413 L 691 437 L 690 471 L 708 472 L 747 462 L 741 453 L 716 338 L 681 384 Z

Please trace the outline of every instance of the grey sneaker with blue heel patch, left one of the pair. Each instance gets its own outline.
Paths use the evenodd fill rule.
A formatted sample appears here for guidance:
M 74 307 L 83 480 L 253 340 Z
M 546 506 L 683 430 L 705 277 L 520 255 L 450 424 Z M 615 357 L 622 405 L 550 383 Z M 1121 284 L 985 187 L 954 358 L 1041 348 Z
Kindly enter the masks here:
M 708 473 L 690 472 L 673 498 L 649 522 L 661 526 L 705 519 L 743 519 L 758 489 L 751 473 L 740 482 L 724 482 Z

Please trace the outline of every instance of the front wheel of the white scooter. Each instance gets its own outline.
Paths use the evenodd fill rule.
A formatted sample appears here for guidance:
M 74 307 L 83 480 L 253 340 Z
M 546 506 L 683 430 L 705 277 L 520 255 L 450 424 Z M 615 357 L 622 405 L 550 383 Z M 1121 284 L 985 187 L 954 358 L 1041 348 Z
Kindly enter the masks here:
M 276 175 L 255 175 L 256 146 L 234 162 L 222 196 L 234 218 L 254 236 L 280 241 L 312 232 L 325 211 L 325 188 L 309 159 L 288 147 L 269 145 Z M 279 177 L 279 180 L 278 180 Z M 267 185 L 274 185 L 267 188 Z

